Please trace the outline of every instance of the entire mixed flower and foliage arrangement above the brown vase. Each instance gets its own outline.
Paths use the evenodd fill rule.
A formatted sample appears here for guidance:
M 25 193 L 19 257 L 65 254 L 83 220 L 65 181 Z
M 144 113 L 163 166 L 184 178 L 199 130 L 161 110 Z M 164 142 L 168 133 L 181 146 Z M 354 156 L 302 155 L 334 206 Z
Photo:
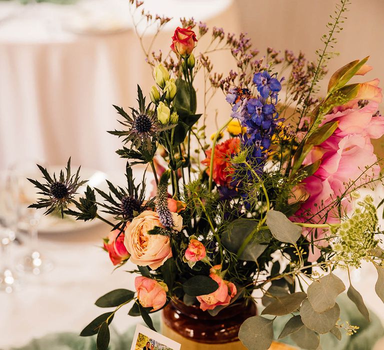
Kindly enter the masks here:
M 131 3 L 136 9 L 142 5 Z M 347 0 L 337 4 L 316 62 L 271 48 L 258 58 L 243 34 L 209 31 L 202 22 L 181 19 L 165 59 L 143 45 L 153 67 L 150 102 L 138 86 L 138 107 L 127 112 L 115 106 L 122 129 L 110 133 L 123 142 L 116 152 L 127 159 L 126 187 L 108 181 L 109 192 L 88 186 L 76 199 L 83 182 L 79 170 L 71 175 L 70 160 L 58 177 L 39 166 L 46 182 L 30 179 L 43 194 L 31 206 L 109 223 L 103 248 L 111 262 L 137 265 L 136 290 L 101 296 L 96 305 L 115 310 L 81 332 L 98 333 L 99 349 L 107 348 L 108 325 L 126 304 L 129 315 L 141 315 L 153 328 L 149 315 L 170 300 L 215 315 L 236 300 L 258 301 L 260 294 L 262 314 L 246 319 L 239 330 L 245 346 L 271 344 L 274 318 L 264 314 L 292 314 L 278 338 L 291 335 L 298 346 L 317 348 L 319 334 L 339 338 L 343 328 L 355 331 L 339 322 L 336 296 L 345 286 L 333 270 L 358 268 L 362 260 L 377 268 L 375 290 L 384 300 L 376 207 L 369 195 L 358 199 L 359 188 L 374 188 L 382 179 L 371 143 L 384 134 L 384 117 L 377 111 L 382 95 L 377 79 L 349 83 L 371 69 L 368 57 L 342 66 L 330 77 L 325 97 L 314 97 L 347 5 Z M 157 33 L 170 20 L 144 10 L 142 15 L 148 25 L 157 25 Z M 197 53 L 207 35 L 209 47 Z M 227 76 L 213 71 L 209 55 L 217 50 L 234 58 L 236 70 Z M 209 86 L 202 113 L 196 113 L 193 82 L 200 72 Z M 210 142 L 206 100 L 219 90 L 230 117 Z M 135 183 L 136 164 L 147 164 L 155 195 L 145 194 L 145 178 Z M 100 212 L 113 215 L 113 222 Z M 352 285 L 348 296 L 369 318 Z

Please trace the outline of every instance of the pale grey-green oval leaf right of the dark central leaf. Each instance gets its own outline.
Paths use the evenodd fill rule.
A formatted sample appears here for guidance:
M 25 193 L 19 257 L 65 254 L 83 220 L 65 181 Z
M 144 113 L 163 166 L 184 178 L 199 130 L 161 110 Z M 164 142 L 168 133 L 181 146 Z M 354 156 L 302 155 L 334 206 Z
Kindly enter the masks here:
M 285 243 L 296 243 L 301 235 L 301 227 L 295 225 L 282 212 L 269 210 L 266 213 L 266 225 L 272 236 Z

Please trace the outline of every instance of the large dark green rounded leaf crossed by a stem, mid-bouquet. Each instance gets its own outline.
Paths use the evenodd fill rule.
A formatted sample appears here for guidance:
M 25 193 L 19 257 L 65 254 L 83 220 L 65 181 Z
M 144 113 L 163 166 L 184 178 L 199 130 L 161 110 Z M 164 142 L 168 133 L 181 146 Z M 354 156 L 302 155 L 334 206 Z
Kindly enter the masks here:
M 232 221 L 222 233 L 221 242 L 229 251 L 236 253 L 244 239 L 257 227 L 257 221 L 239 218 Z M 245 249 L 238 256 L 241 260 L 257 261 L 269 242 L 270 236 L 267 231 L 254 232 L 252 240 L 245 246 Z M 261 244 L 264 243 L 264 244 Z

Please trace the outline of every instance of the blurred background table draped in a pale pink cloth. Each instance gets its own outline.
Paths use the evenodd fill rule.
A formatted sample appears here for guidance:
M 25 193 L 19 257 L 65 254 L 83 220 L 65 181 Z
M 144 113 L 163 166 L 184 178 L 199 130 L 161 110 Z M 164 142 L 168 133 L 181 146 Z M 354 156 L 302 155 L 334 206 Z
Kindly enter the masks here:
M 232 0 L 146 0 L 174 19 L 158 38 L 167 50 L 180 16 L 237 31 Z M 149 31 L 150 34 L 150 31 Z M 0 1 L 0 169 L 24 159 L 120 167 L 112 104 L 135 105 L 153 84 L 128 0 L 74 4 Z M 225 103 L 223 103 L 225 104 Z

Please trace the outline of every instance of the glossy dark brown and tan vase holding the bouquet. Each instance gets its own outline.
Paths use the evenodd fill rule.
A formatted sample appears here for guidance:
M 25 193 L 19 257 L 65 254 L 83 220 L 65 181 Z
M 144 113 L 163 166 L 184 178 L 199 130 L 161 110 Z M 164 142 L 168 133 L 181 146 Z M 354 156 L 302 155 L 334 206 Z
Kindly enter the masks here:
M 181 343 L 182 350 L 246 349 L 238 340 L 238 330 L 245 319 L 256 313 L 255 303 L 245 300 L 234 302 L 214 317 L 197 305 L 170 301 L 162 312 L 162 333 Z M 270 349 L 291 348 L 284 346 L 276 343 Z

